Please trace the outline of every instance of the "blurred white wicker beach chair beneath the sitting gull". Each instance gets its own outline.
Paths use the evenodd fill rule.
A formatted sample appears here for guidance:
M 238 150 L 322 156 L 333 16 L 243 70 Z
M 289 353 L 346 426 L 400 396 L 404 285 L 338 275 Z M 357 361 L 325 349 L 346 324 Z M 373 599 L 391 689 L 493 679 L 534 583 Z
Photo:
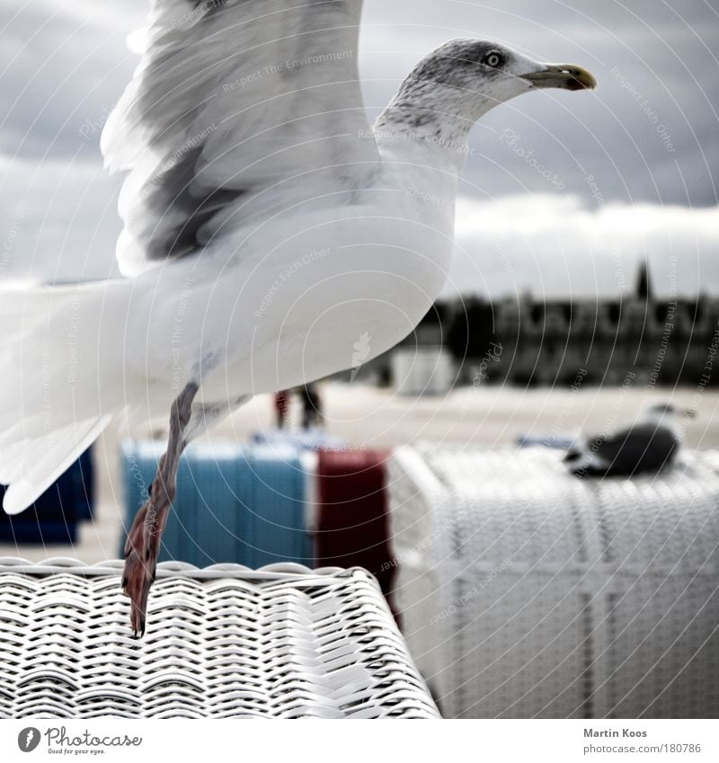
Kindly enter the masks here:
M 449 717 L 717 717 L 719 456 L 580 480 L 544 448 L 400 448 L 395 605 Z

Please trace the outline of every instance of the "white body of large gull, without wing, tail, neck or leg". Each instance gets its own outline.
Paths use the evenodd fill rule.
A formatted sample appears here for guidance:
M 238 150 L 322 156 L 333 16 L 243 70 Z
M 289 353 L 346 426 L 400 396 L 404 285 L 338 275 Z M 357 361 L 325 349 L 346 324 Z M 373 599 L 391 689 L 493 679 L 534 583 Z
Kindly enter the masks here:
M 155 276 L 164 284 L 151 287 L 153 347 L 143 353 L 153 376 L 174 379 L 181 366 L 184 381 L 201 368 L 203 397 L 222 400 L 296 386 L 389 350 L 448 276 L 454 207 L 427 193 L 416 183 L 377 184 L 350 204 L 305 206 L 237 230 L 200 264 L 164 269 Z

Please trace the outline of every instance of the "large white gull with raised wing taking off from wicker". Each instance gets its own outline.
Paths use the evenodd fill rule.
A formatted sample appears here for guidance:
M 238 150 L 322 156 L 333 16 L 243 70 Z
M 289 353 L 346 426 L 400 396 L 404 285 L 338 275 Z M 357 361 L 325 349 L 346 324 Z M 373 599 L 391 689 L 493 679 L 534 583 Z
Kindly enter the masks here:
M 590 73 L 451 40 L 373 126 L 360 92 L 361 0 L 153 0 L 101 150 L 128 173 L 121 279 L 2 296 L 0 482 L 29 506 L 117 416 L 170 413 L 125 547 L 144 634 L 179 459 L 253 395 L 376 358 L 447 277 L 469 131 Z M 12 326 L 12 329 L 9 328 Z

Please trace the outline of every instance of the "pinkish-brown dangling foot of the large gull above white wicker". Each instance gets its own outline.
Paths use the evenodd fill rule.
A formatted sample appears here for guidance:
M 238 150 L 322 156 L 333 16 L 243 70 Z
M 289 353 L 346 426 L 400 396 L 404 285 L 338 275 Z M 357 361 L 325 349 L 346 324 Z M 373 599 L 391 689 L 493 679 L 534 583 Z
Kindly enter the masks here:
M 130 626 L 135 638 L 145 635 L 147 597 L 155 582 L 160 536 L 157 507 L 150 498 L 138 510 L 125 543 L 122 590 L 131 602 Z

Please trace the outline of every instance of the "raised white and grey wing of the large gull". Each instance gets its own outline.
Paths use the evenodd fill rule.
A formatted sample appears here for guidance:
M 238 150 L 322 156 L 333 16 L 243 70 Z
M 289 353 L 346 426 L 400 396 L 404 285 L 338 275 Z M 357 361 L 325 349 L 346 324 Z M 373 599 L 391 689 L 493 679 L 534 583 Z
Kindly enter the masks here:
M 130 171 L 123 272 L 195 253 L 228 225 L 301 202 L 315 181 L 342 191 L 369 172 L 361 6 L 152 0 L 142 60 L 102 133 L 107 166 Z

